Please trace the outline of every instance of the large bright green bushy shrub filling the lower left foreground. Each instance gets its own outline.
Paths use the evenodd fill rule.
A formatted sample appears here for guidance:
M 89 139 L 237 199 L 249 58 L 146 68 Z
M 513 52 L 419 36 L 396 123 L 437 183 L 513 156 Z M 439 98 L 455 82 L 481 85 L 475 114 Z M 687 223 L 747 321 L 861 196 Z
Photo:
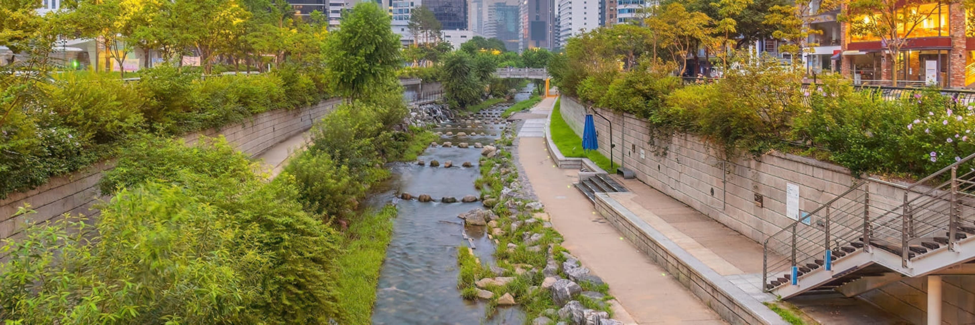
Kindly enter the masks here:
M 8 242 L 0 316 L 24 323 L 343 320 L 338 235 L 302 211 L 290 183 L 264 183 L 254 163 L 222 140 L 187 147 L 143 139 L 124 152 L 106 177 L 129 187 L 100 208 L 97 223 L 33 226 L 26 239 Z

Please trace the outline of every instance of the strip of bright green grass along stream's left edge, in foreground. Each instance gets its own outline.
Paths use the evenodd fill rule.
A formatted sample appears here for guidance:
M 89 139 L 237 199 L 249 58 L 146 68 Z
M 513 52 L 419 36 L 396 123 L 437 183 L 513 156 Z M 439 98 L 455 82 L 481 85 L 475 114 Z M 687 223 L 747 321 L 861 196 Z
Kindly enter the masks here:
M 393 233 L 396 207 L 367 212 L 349 223 L 338 258 L 338 309 L 349 324 L 370 324 L 379 269 L 386 259 L 386 247 Z

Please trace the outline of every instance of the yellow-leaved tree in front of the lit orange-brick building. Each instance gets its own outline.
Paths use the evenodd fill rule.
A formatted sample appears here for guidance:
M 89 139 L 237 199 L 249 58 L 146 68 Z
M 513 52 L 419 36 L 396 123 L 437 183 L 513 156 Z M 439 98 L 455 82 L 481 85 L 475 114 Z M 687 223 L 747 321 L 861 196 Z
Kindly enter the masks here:
M 897 86 L 896 71 L 903 65 L 901 49 L 910 44 L 915 30 L 937 13 L 941 5 L 953 1 L 956 0 L 839 0 L 833 6 L 846 8 L 839 20 L 849 23 L 850 34 L 880 39 L 888 52 L 886 59 L 895 71 L 891 81 Z M 936 5 L 929 9 L 921 8 L 932 3 Z

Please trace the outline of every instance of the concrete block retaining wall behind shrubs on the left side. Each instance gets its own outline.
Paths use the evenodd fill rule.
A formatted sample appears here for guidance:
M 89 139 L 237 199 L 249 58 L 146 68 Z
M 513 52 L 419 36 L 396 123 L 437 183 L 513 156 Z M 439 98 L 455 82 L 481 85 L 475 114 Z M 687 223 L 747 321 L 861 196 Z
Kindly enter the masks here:
M 331 99 L 300 109 L 278 109 L 254 115 L 247 120 L 218 129 L 204 130 L 183 137 L 185 142 L 196 142 L 200 136 L 224 136 L 237 149 L 254 157 L 272 145 L 311 128 L 341 100 Z M 91 216 L 92 205 L 100 196 L 98 181 L 101 172 L 114 167 L 114 161 L 99 162 L 69 175 L 52 178 L 51 181 L 29 191 L 11 193 L 0 200 L 0 239 L 17 237 L 24 221 L 43 222 L 63 214 Z M 29 203 L 37 211 L 29 216 L 12 216 L 18 207 Z

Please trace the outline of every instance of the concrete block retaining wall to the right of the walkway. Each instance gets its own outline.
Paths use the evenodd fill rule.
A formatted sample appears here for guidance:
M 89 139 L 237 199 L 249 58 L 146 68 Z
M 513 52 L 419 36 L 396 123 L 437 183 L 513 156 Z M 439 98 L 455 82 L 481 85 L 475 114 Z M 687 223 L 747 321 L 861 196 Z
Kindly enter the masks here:
M 800 211 L 811 212 L 859 182 L 846 168 L 791 154 L 772 152 L 754 159 L 749 154 L 739 154 L 731 159 L 723 159 L 721 148 L 697 136 L 676 134 L 665 139 L 651 139 L 650 127 L 643 119 L 631 114 L 596 109 L 613 123 L 611 139 L 616 144 L 610 152 L 609 127 L 602 118 L 595 118 L 601 153 L 606 157 L 612 154 L 615 161 L 622 161 L 622 166 L 633 170 L 641 182 L 760 243 L 769 235 L 795 222 L 786 217 L 786 183 L 799 185 Z M 574 99 L 563 97 L 561 110 L 570 126 L 579 126 L 578 129 L 573 126 L 573 130 L 581 135 L 582 121 L 585 118 L 584 106 Z M 651 141 L 657 145 L 650 144 Z M 665 153 L 662 153 L 663 147 L 666 147 Z M 904 190 L 896 186 L 870 182 L 862 188 L 870 195 L 871 216 L 897 208 L 904 199 Z M 863 195 L 863 192 L 860 190 L 854 196 Z M 757 195 L 761 195 L 761 205 L 756 202 Z M 913 197 L 914 194 L 910 195 Z M 849 202 L 840 199 L 832 207 L 846 206 L 846 211 L 851 212 L 851 204 L 847 204 Z M 844 215 L 847 218 L 844 225 L 847 227 L 857 227 L 862 223 L 857 215 L 839 214 L 838 210 L 833 210 L 833 214 L 834 221 L 837 220 L 837 215 Z M 817 226 L 816 223 L 822 221 L 822 218 L 813 216 L 811 225 L 800 226 Z M 833 230 L 838 229 L 834 227 Z M 810 246 L 810 249 L 821 250 L 815 246 Z M 807 252 L 809 255 L 819 253 L 821 252 Z M 959 284 L 970 284 L 971 282 L 965 281 L 972 281 L 972 277 L 975 276 L 944 278 L 949 283 L 953 280 L 948 279 L 960 278 L 964 280 L 958 280 L 961 281 Z M 923 302 L 917 305 L 909 297 L 923 297 L 921 282 L 924 282 L 923 278 L 897 282 L 862 297 L 907 319 L 918 319 L 917 310 L 922 310 L 925 305 Z M 912 286 L 911 283 L 916 285 Z M 957 285 L 958 293 L 951 295 L 949 283 L 945 284 L 944 312 L 957 315 L 975 313 L 975 300 L 969 298 L 975 295 L 975 286 Z M 902 290 L 897 294 L 886 294 L 885 288 Z M 888 304 L 893 301 L 902 303 Z M 903 305 L 915 307 L 906 308 Z M 970 318 L 956 318 L 959 322 L 950 324 L 972 322 L 961 321 Z

